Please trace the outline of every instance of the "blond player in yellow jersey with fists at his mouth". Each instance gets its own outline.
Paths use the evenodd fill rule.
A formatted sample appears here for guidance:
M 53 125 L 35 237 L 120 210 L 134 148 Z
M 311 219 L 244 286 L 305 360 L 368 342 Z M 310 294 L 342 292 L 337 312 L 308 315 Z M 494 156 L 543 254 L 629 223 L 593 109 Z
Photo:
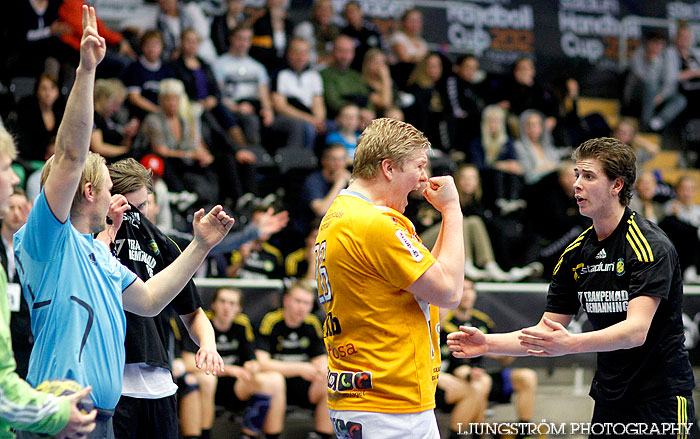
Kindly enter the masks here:
M 457 189 L 452 177 L 427 177 L 429 148 L 410 124 L 370 122 L 350 186 L 321 222 L 316 273 L 338 438 L 440 437 L 437 307 L 459 302 L 464 248 Z M 416 189 L 443 217 L 432 252 L 403 216 Z

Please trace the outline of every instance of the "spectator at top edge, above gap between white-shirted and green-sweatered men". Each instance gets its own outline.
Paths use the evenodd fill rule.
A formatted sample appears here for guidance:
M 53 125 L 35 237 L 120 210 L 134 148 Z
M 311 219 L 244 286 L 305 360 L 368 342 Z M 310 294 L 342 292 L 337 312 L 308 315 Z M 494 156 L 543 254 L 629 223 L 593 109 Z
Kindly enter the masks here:
M 325 67 L 331 62 L 333 43 L 340 35 L 338 26 L 333 24 L 333 3 L 331 0 L 316 0 L 312 19 L 294 28 L 294 36 L 308 41 L 311 46 L 312 66 Z

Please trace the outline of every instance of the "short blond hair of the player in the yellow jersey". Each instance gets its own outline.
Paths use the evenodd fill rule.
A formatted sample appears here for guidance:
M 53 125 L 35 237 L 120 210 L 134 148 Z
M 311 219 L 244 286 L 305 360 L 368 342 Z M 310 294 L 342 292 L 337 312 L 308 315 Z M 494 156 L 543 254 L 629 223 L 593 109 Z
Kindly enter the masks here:
M 388 117 L 375 119 L 357 140 L 352 178 L 373 180 L 384 160 L 391 160 L 403 169 L 406 160 L 416 151 L 428 149 L 428 139 L 410 123 Z

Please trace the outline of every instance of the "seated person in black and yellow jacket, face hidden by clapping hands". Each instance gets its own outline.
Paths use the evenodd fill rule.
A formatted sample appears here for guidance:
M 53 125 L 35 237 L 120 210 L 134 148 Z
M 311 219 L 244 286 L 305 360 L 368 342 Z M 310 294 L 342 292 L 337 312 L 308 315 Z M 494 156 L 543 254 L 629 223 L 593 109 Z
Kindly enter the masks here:
M 258 222 L 258 217 L 265 215 L 268 209 L 265 205 L 256 206 L 252 222 Z M 270 236 L 269 233 L 260 233 L 257 238 L 234 250 L 226 275 L 238 279 L 281 279 L 284 275 L 284 259 L 282 252 L 268 242 Z

